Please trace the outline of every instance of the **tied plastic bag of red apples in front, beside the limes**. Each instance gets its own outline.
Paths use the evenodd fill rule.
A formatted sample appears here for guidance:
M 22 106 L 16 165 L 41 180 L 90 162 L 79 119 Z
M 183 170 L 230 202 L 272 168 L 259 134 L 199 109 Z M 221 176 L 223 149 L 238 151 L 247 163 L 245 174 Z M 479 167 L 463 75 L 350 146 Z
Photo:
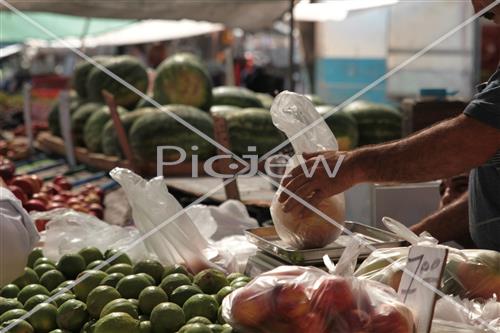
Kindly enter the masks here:
M 393 289 L 352 276 L 354 252 L 348 246 L 333 274 L 282 266 L 256 277 L 224 299 L 223 318 L 242 333 L 412 333 L 413 314 Z

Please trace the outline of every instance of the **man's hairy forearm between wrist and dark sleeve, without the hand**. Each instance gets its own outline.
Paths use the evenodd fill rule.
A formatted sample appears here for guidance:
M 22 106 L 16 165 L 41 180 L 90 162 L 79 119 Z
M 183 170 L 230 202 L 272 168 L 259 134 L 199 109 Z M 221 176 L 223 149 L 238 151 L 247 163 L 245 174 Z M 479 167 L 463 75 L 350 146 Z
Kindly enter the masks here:
M 483 164 L 499 142 L 499 130 L 460 115 L 406 139 L 355 150 L 347 161 L 358 182 L 423 182 Z

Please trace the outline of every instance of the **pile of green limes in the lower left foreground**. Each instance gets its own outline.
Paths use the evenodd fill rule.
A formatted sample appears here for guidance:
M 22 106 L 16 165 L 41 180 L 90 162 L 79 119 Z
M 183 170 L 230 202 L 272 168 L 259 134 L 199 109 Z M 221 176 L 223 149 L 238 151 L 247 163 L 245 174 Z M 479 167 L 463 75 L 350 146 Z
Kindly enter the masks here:
M 135 264 L 94 247 L 57 263 L 35 249 L 24 274 L 0 289 L 0 331 L 11 333 L 230 333 L 224 297 L 249 278 L 182 265 Z

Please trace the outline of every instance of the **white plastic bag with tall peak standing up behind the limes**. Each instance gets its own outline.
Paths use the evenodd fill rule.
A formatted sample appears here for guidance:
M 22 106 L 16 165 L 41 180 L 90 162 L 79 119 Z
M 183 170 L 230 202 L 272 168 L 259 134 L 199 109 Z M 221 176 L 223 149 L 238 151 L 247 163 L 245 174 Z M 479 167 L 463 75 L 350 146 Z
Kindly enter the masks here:
M 168 192 L 163 177 L 146 181 L 123 168 L 110 172 L 125 191 L 146 248 L 164 264 L 184 263 L 193 273 L 205 268 L 234 270 L 234 259 L 211 246 Z

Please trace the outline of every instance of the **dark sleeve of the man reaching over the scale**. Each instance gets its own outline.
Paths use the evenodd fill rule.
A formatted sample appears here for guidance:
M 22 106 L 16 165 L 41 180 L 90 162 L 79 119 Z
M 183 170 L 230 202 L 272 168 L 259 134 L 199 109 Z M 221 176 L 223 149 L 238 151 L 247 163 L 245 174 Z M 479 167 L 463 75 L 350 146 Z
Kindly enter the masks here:
M 477 94 L 464 113 L 486 125 L 500 129 L 500 85 L 490 84 Z

